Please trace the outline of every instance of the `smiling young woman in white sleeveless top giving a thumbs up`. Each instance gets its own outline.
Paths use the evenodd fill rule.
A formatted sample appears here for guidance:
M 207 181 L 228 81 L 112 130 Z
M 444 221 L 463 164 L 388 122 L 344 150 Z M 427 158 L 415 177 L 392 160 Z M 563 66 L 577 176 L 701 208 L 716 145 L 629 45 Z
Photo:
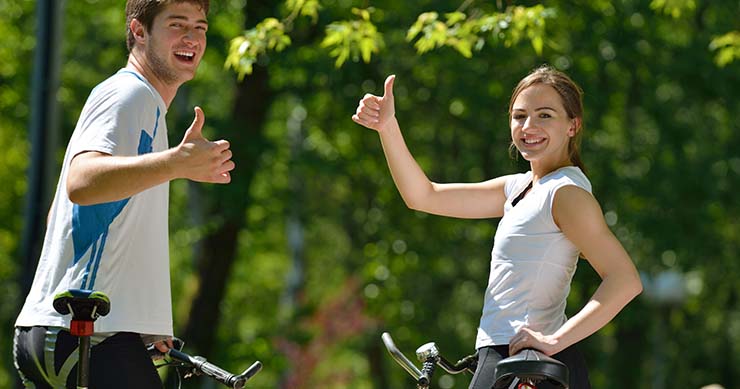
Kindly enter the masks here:
M 637 271 L 607 227 L 579 155 L 581 89 L 540 67 L 511 96 L 512 146 L 530 170 L 470 184 L 431 182 L 409 152 L 395 117 L 393 83 L 365 95 L 352 120 L 380 135 L 391 175 L 409 208 L 458 218 L 498 218 L 471 389 L 493 386 L 496 363 L 534 348 L 565 363 L 571 389 L 590 388 L 575 344 L 606 325 L 642 291 Z M 565 303 L 579 256 L 601 277 L 571 318 Z M 541 386 L 542 387 L 542 386 Z

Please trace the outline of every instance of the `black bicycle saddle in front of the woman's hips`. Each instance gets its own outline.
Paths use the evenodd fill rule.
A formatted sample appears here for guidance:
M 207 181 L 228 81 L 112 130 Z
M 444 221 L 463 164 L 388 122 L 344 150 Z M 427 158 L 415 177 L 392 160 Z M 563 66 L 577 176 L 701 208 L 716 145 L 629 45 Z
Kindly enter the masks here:
M 568 367 L 555 358 L 534 350 L 524 349 L 496 364 L 494 389 L 505 389 L 515 378 L 530 379 L 533 382 L 549 381 L 563 389 L 568 389 Z

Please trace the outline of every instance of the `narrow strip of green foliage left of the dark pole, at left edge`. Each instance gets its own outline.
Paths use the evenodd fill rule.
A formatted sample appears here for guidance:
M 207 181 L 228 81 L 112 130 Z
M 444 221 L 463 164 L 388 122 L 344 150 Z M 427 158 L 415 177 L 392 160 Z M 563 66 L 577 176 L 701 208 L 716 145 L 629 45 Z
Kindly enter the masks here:
M 11 354 L 17 302 L 21 300 L 16 277 L 21 268 L 17 253 L 21 245 L 27 183 L 29 143 L 26 128 L 30 115 L 30 85 L 34 47 L 32 1 L 0 1 L 0 387 L 15 380 Z

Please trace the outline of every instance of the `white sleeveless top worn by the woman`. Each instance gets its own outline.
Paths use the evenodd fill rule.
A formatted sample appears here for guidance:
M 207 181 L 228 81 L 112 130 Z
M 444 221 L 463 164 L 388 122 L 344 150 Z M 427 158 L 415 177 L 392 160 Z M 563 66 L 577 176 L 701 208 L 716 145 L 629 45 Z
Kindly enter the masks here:
M 591 193 L 591 183 L 578 167 L 563 167 L 540 178 L 513 206 L 531 181 L 531 171 L 506 181 L 476 348 L 508 344 L 524 326 L 549 335 L 567 320 L 565 303 L 579 251 L 553 221 L 552 204 L 563 186 Z

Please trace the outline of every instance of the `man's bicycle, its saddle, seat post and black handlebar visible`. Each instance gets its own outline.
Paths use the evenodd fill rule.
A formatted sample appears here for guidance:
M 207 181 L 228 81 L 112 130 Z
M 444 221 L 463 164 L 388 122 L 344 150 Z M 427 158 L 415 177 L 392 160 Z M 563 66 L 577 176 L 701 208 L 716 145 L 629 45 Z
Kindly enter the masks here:
M 86 389 L 90 378 L 90 337 L 95 332 L 94 322 L 110 312 L 110 300 L 108 296 L 99 291 L 70 289 L 54 296 L 53 304 L 54 309 L 60 314 L 72 314 L 69 332 L 78 338 L 79 343 L 77 387 L 78 389 Z M 166 353 L 157 350 L 153 344 L 147 346 L 147 351 L 153 360 L 168 358 L 171 361 L 157 365 L 157 368 L 165 366 L 185 367 L 188 371 L 181 374 L 182 378 L 204 375 L 232 389 L 244 388 L 247 380 L 262 369 L 262 363 L 256 361 L 241 374 L 232 374 L 208 362 L 201 356 L 192 356 L 182 352 L 183 345 L 182 340 L 174 338 L 174 347 Z M 180 374 L 179 370 L 178 374 Z

